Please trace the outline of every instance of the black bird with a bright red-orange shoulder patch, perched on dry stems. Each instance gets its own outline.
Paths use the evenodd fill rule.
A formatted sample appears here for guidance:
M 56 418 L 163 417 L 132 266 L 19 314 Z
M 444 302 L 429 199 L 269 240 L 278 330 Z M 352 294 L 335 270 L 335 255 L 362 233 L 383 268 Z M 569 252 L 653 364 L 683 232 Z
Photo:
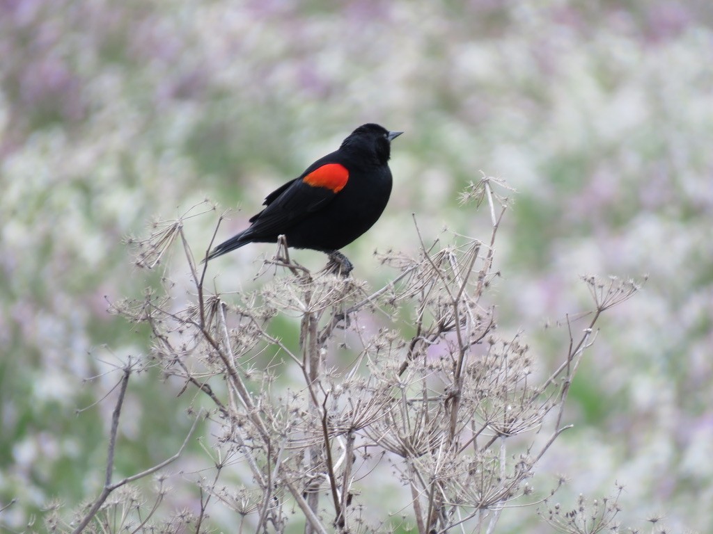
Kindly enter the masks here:
M 379 219 L 391 194 L 391 141 L 403 132 L 361 125 L 337 152 L 317 159 L 291 182 L 267 195 L 267 207 L 250 226 L 210 251 L 217 258 L 248 243 L 275 243 L 329 254 L 332 268 L 348 274 L 352 263 L 339 248 L 364 234 Z

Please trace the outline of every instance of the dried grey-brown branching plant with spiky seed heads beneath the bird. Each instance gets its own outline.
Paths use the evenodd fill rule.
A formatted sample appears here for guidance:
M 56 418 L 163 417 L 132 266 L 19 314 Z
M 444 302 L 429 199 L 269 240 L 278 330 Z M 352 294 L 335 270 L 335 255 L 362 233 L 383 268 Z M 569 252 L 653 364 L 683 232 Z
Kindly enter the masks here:
M 568 428 L 563 406 L 600 313 L 637 287 L 585 278 L 595 301 L 590 321 L 576 335 L 570 325 L 555 370 L 537 370 L 521 335 L 498 335 L 485 298 L 498 276 L 494 245 L 507 207 L 493 192 L 498 187 L 483 177 L 463 194 L 488 202 L 488 242 L 453 236 L 447 244 L 426 244 L 419 232 L 415 257 L 380 256 L 398 274 L 372 292 L 352 278 L 307 271 L 289 259 L 283 243 L 266 262 L 277 274 L 260 290 L 211 293 L 206 268 L 185 239 L 185 218 L 157 224 L 150 238 L 135 241 L 137 265 L 145 268 L 155 267 L 166 247 L 182 244 L 195 288 L 184 305 L 168 292 L 115 305 L 117 313 L 149 325 L 153 365 L 211 406 L 205 417 L 214 438 L 201 443 L 215 476 L 199 481 L 200 513 L 174 518 L 182 528 L 207 531 L 209 505 L 220 503 L 235 513 L 241 532 L 283 532 L 301 522 L 307 534 L 406 525 L 421 534 L 455 527 L 493 533 L 503 509 L 531 493 L 536 464 Z M 409 328 L 374 328 L 372 319 L 382 314 Z M 299 320 L 299 349 L 272 334 L 278 315 Z M 348 361 L 339 357 L 344 344 Z M 125 380 L 129 375 L 127 368 Z M 113 429 L 112 443 L 115 438 Z M 127 502 L 108 497 L 128 481 L 111 482 L 113 445 L 110 451 L 104 491 L 78 520 L 77 532 L 126 528 L 108 523 L 116 517 L 112 507 Z M 227 465 L 240 484 L 222 482 Z M 402 511 L 403 523 L 386 509 L 366 508 L 365 488 L 381 486 L 387 476 L 405 489 L 410 511 Z M 602 506 L 597 525 L 615 515 L 609 503 Z M 571 530 L 578 517 L 545 519 L 579 532 Z M 178 523 L 157 528 L 180 530 Z M 137 520 L 132 529 L 143 524 Z

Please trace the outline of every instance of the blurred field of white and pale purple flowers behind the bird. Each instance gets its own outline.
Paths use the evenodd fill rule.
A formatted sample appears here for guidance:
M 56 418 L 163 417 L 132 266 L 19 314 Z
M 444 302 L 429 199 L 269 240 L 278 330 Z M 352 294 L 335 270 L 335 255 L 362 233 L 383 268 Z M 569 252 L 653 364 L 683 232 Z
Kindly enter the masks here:
M 234 211 L 220 240 L 379 122 L 406 133 L 384 216 L 345 249 L 355 276 L 376 287 L 391 273 L 375 248 L 418 248 L 412 213 L 427 239 L 443 226 L 489 239 L 486 212 L 457 202 L 481 170 L 518 191 L 491 298 L 541 367 L 568 339 L 545 325 L 588 308 L 579 275 L 647 274 L 600 323 L 565 412 L 575 427 L 539 465 L 535 496 L 559 474 L 563 502 L 618 481 L 626 525 L 663 513 L 672 530 L 709 531 L 712 25 L 707 0 L 0 2 L 0 507 L 18 499 L 0 525 L 101 487 L 113 404 L 91 405 L 118 375 L 83 379 L 148 350 L 145 330 L 106 310 L 155 283 L 123 238 L 208 197 L 219 211 L 188 229 L 200 256 L 222 209 Z M 273 250 L 242 248 L 211 276 L 250 288 Z M 169 261 L 174 280 L 187 272 Z M 117 476 L 178 449 L 179 387 L 131 384 Z M 194 506 L 179 489 L 172 505 Z M 498 532 L 525 528 L 550 532 L 534 508 L 504 511 Z

